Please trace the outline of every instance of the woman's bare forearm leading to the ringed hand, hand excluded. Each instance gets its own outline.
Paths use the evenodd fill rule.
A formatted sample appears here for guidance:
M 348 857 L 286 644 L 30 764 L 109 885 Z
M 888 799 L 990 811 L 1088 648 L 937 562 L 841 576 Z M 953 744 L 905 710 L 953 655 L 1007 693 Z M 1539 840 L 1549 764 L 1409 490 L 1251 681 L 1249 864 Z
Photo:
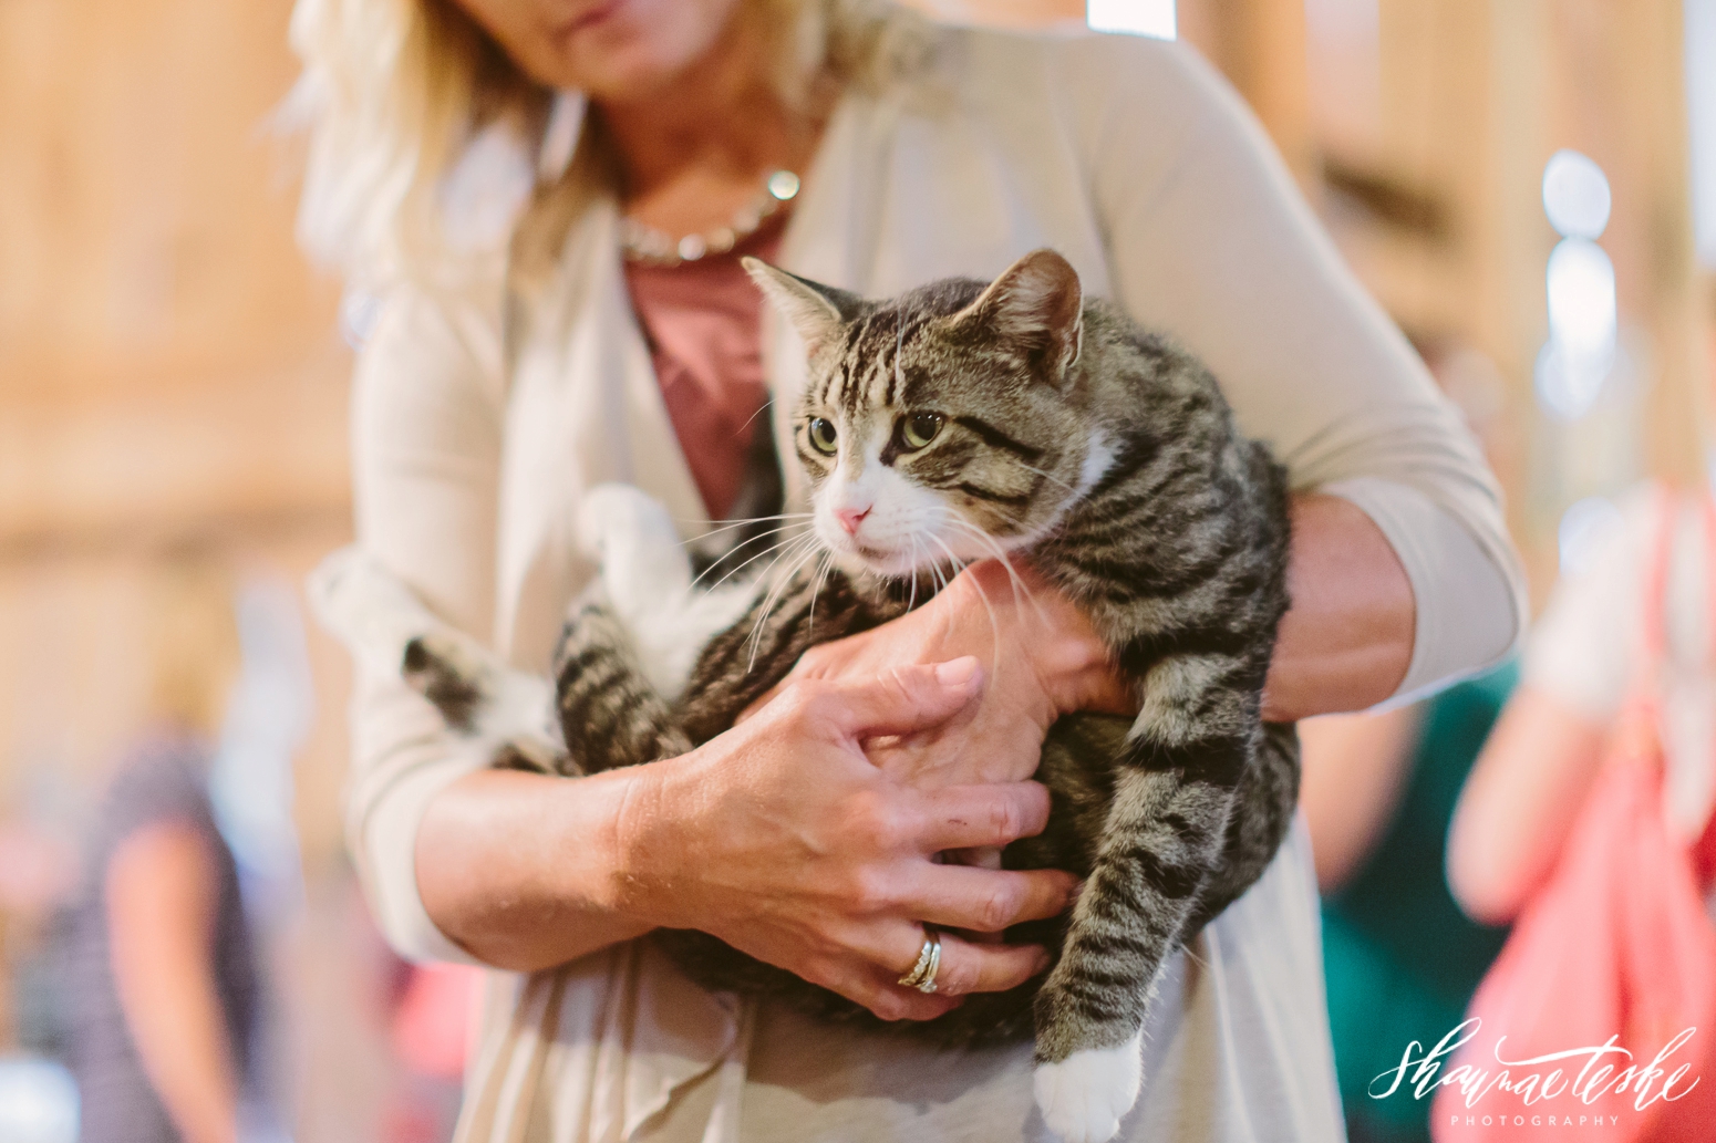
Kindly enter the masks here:
M 477 771 L 417 829 L 417 891 L 453 942 L 498 968 L 563 965 L 652 928 L 621 911 L 618 827 L 645 771 L 565 779 Z

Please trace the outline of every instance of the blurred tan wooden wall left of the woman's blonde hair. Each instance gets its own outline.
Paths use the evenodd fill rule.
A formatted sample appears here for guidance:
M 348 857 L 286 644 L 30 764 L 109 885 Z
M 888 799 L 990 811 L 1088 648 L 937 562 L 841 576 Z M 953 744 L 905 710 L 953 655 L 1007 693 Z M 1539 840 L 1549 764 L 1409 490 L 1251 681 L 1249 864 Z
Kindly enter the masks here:
M 288 0 L 0 3 L 0 810 L 141 719 L 137 566 L 185 532 L 300 578 L 348 530 L 338 285 L 268 118 Z M 343 654 L 299 808 L 336 853 Z

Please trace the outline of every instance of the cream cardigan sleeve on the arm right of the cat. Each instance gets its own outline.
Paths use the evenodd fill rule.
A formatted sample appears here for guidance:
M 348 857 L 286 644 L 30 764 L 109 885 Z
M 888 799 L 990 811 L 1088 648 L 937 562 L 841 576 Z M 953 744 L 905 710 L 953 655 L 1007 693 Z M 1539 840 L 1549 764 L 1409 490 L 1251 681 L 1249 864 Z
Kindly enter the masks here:
M 1498 662 L 1527 606 L 1495 477 L 1249 110 L 1174 43 L 1072 39 L 1057 70 L 1115 300 L 1210 366 L 1296 491 L 1357 505 L 1400 558 L 1399 697 Z

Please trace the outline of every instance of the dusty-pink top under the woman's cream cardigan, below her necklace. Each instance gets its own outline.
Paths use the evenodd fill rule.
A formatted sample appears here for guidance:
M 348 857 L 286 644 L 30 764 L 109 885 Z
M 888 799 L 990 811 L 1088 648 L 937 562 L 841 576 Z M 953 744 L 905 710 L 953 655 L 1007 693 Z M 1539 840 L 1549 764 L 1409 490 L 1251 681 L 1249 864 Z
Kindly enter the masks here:
M 746 457 L 769 417 L 762 372 L 762 293 L 741 254 L 772 263 L 782 216 L 729 254 L 680 266 L 626 263 L 631 309 L 656 379 L 710 520 L 726 518 L 745 482 Z

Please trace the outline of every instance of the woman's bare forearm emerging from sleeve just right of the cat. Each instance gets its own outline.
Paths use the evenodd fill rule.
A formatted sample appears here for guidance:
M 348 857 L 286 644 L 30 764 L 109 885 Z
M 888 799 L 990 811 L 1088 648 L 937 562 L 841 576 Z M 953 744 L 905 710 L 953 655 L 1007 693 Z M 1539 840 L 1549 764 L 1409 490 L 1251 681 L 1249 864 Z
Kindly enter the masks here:
M 1350 501 L 1292 501 L 1292 608 L 1265 685 L 1272 721 L 1363 711 L 1400 688 L 1417 620 L 1412 582 L 1381 529 Z

